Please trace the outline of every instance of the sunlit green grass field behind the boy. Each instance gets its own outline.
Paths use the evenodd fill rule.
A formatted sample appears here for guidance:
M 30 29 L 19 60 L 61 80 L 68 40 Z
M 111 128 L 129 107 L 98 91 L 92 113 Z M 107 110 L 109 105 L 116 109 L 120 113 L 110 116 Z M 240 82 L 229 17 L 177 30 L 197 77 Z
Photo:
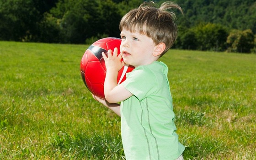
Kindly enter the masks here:
M 80 76 L 86 45 L 0 42 L 0 160 L 122 160 L 120 117 Z M 184 159 L 256 159 L 256 54 L 170 50 Z

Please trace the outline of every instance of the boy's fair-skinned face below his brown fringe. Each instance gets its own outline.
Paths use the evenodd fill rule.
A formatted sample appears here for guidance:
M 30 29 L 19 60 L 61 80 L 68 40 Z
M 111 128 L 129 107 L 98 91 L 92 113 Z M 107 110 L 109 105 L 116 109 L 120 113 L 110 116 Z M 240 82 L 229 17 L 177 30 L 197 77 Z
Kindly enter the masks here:
M 153 55 L 155 43 L 152 38 L 139 32 L 130 32 L 125 29 L 120 35 L 122 38 L 120 51 L 125 64 L 138 67 L 155 61 L 155 56 Z

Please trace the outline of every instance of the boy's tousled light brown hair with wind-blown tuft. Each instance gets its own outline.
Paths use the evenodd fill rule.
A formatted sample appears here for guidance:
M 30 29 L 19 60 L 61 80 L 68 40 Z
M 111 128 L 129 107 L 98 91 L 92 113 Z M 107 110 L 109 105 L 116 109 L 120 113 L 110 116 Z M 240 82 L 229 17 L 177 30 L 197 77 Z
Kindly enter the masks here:
M 119 29 L 126 29 L 130 32 L 139 32 L 153 39 L 157 45 L 165 43 L 165 50 L 161 54 L 165 54 L 173 45 L 177 37 L 177 26 L 175 23 L 176 16 L 174 12 L 167 11 L 168 9 L 176 8 L 181 10 L 179 5 L 172 2 L 163 3 L 160 8 L 144 2 L 137 9 L 129 11 L 123 16 Z

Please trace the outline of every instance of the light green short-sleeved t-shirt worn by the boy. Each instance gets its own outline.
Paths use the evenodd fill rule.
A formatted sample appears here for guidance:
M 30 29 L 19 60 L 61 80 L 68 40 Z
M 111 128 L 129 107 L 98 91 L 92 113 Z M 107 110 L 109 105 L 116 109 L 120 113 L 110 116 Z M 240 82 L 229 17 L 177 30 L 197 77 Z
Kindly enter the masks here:
M 155 61 L 127 74 L 121 84 L 133 96 L 121 102 L 121 134 L 127 160 L 175 160 L 185 147 L 174 124 L 168 67 Z

